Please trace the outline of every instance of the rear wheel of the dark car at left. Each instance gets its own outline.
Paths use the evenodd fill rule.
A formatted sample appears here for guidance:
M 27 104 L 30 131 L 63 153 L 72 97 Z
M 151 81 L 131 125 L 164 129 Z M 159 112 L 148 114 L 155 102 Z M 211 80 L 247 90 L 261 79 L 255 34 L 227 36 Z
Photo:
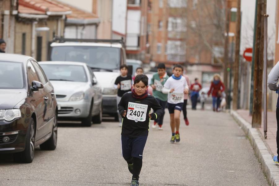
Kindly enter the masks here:
M 57 113 L 55 113 L 50 139 L 40 144 L 41 150 L 55 150 L 57 145 Z

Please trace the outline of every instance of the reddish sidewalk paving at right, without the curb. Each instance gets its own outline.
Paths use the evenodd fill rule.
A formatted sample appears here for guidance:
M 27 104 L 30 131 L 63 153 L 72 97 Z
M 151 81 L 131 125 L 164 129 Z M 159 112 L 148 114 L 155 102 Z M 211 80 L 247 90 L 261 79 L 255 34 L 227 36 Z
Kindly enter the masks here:
M 249 116 L 249 110 L 237 110 L 237 113 L 245 119 L 250 124 L 252 123 L 252 116 Z M 259 131 L 262 135 L 262 139 L 265 144 L 268 144 L 272 152 L 272 157 L 277 155 L 277 144 L 276 144 L 276 131 L 277 131 L 277 121 L 276 121 L 276 112 L 268 112 L 267 118 L 267 139 L 264 139 L 263 133 L 263 114 L 262 114 L 262 127 L 259 128 Z

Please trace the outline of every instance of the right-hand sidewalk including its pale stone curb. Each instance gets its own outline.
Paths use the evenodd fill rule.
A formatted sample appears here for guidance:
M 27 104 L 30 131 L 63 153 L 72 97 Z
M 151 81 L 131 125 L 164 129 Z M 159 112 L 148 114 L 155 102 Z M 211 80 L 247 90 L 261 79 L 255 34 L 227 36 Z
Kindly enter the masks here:
M 252 117 L 249 115 L 249 110 L 231 110 L 231 115 L 250 139 L 255 155 L 258 157 L 263 172 L 267 176 L 268 183 L 271 186 L 279 186 L 279 167 L 272 160 L 273 155 L 277 155 L 276 112 L 268 112 L 267 139 L 264 139 L 263 118 L 262 127 L 257 129 L 252 128 Z

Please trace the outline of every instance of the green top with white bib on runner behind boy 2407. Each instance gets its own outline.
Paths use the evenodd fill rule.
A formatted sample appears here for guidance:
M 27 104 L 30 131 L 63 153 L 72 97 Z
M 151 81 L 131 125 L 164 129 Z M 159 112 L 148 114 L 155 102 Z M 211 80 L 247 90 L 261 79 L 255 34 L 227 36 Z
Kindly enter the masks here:
M 165 73 L 165 75 L 163 76 L 163 81 L 161 82 L 161 79 L 159 77 L 158 73 L 155 73 L 153 75 L 153 77 L 151 78 L 151 82 L 150 85 L 155 85 L 156 86 L 156 90 L 153 90 L 153 96 L 159 100 L 162 101 L 167 101 L 168 100 L 168 95 L 167 94 L 163 94 L 162 89 L 164 87 L 164 84 L 166 82 L 166 80 L 169 78 L 169 76 L 167 75 L 167 73 Z

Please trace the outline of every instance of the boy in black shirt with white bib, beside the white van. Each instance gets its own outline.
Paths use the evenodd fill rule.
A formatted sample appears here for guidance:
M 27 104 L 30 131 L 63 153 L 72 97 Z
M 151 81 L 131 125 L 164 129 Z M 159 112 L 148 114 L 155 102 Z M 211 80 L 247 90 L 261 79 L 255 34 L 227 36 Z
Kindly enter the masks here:
M 117 88 L 117 105 L 119 101 L 121 100 L 121 97 L 126 92 L 131 91 L 131 85 L 132 85 L 132 77 L 128 74 L 128 66 L 126 64 L 123 64 L 120 66 L 120 73 L 121 75 L 118 76 L 114 82 L 114 88 Z M 118 120 L 119 120 L 119 126 L 122 126 L 122 117 L 118 113 Z

